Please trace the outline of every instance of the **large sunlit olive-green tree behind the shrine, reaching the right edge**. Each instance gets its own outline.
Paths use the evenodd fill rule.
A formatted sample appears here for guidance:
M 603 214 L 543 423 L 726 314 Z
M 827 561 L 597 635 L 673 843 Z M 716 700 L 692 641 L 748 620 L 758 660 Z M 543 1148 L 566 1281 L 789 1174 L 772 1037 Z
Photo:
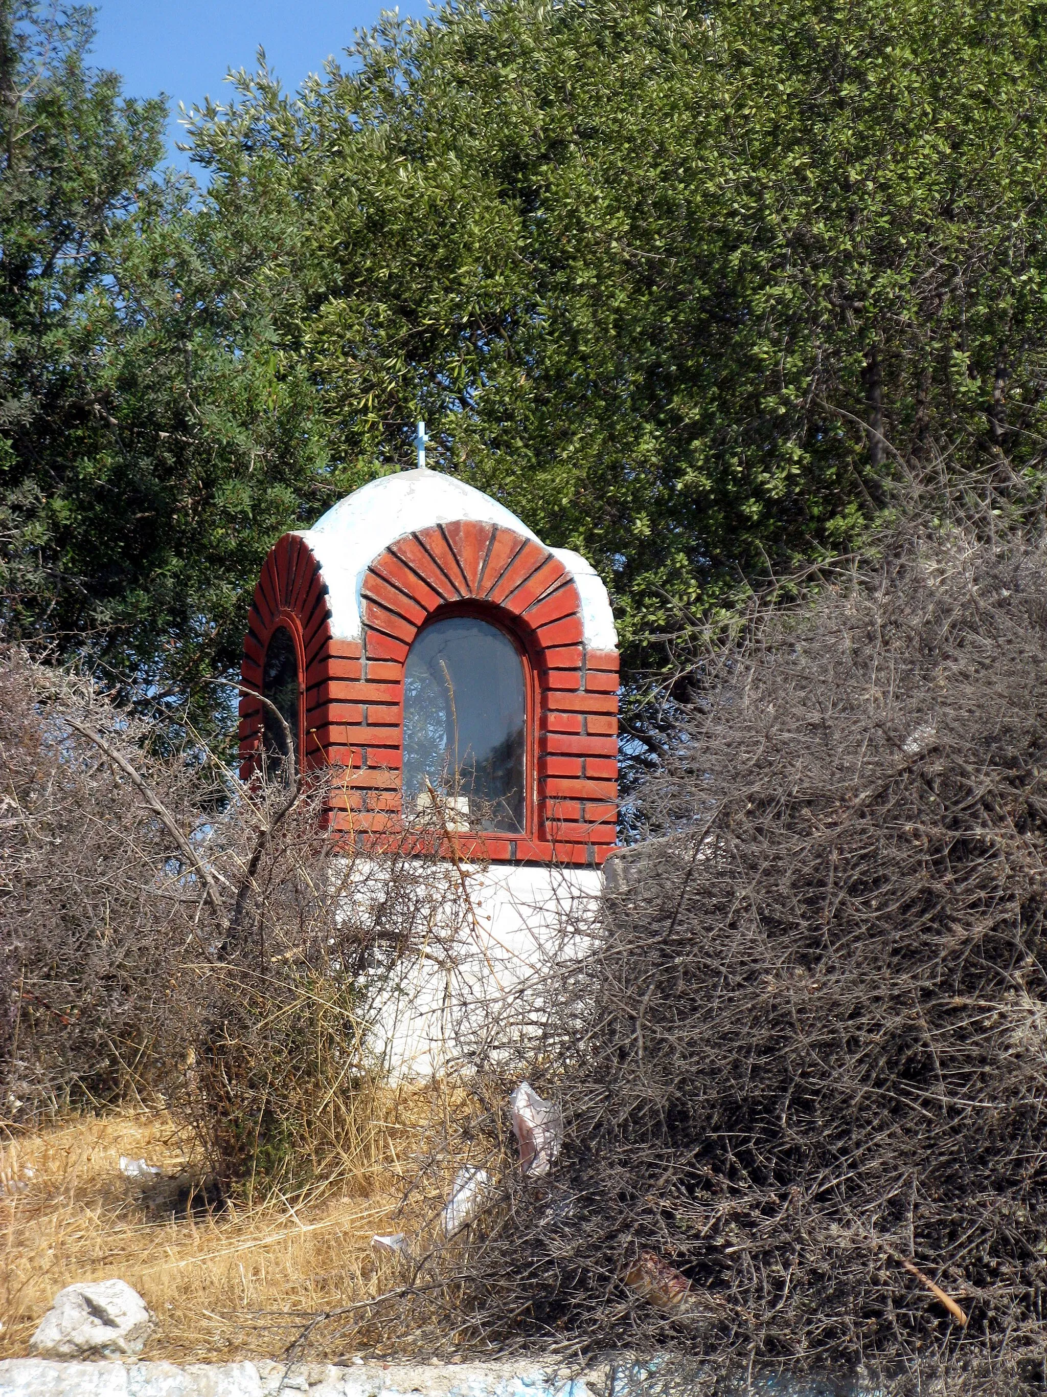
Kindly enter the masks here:
M 595 560 L 639 666 L 853 542 L 900 462 L 1039 488 L 1046 15 L 466 0 L 300 101 L 242 74 L 193 141 L 219 218 L 295 210 L 283 362 L 346 478 L 424 415 Z

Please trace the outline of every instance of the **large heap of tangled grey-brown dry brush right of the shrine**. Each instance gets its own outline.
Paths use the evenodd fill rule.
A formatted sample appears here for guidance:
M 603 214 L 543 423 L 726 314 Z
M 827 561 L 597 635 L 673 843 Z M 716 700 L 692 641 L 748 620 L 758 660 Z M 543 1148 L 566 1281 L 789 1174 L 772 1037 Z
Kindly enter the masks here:
M 662 1376 L 698 1387 L 702 1358 L 1043 1383 L 1047 549 L 895 539 L 754 606 L 695 685 L 602 937 L 517 1049 L 558 1165 L 505 1154 L 503 1041 L 497 1199 L 385 1322 L 690 1355 Z M 680 1309 L 625 1284 L 644 1252 Z

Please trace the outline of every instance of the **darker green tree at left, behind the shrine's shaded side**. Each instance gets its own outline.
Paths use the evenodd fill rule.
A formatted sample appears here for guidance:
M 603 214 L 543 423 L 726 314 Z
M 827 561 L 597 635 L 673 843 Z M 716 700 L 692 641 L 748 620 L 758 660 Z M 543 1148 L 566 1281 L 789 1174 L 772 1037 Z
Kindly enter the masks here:
M 50 11 L 0 0 L 0 617 L 184 693 L 237 661 L 244 587 L 322 509 L 325 455 L 258 239 L 152 173 L 165 103 L 88 67 L 88 10 Z

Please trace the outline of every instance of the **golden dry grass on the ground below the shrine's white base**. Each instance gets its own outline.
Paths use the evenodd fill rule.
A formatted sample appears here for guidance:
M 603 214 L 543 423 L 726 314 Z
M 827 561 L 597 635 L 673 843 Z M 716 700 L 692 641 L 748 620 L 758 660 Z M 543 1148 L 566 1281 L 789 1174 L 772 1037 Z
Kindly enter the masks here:
M 426 1122 L 443 1112 L 431 1092 L 387 1090 L 374 1105 L 376 1123 L 336 1182 L 195 1218 L 151 1217 L 120 1173 L 121 1154 L 169 1173 L 190 1162 L 163 1112 L 82 1116 L 10 1140 L 0 1153 L 0 1356 L 25 1354 L 73 1281 L 133 1285 L 158 1317 L 145 1356 L 173 1361 L 278 1356 L 303 1315 L 376 1294 L 389 1275 L 376 1270 L 370 1239 L 410 1228 L 396 1213 L 403 1180 L 426 1148 Z M 18 1180 L 24 1192 L 11 1189 Z

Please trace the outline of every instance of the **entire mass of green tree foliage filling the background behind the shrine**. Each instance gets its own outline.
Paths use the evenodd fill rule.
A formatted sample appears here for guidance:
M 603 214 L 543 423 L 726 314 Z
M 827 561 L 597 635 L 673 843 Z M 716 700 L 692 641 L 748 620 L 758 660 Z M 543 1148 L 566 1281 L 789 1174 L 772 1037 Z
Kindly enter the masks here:
M 265 548 L 410 461 L 607 580 L 634 676 L 934 465 L 1043 490 L 1040 0 L 494 0 L 300 98 L 3 38 L 6 615 L 180 689 Z M 52 38 L 54 38 L 54 35 Z M 28 38 L 27 38 L 28 36 Z

